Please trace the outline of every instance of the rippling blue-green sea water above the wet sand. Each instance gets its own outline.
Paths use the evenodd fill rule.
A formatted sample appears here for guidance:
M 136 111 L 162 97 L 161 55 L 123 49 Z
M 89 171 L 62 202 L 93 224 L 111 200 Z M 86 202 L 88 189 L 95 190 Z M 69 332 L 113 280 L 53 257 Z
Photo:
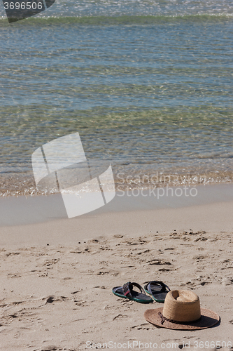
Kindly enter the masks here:
M 218 2 L 56 1 L 2 18 L 0 194 L 34 193 L 32 152 L 77 131 L 116 183 L 232 182 L 233 5 Z

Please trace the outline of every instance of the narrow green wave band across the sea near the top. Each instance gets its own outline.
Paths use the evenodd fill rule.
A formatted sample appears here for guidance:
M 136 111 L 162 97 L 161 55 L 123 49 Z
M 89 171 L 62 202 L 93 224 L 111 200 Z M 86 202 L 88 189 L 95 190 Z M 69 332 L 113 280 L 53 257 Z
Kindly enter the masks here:
M 119 16 L 47 16 L 31 17 L 17 22 L 17 25 L 156 25 L 167 22 L 228 22 L 233 13 L 198 15 L 119 15 Z M 5 17 L 0 18 L 0 26 L 8 24 Z

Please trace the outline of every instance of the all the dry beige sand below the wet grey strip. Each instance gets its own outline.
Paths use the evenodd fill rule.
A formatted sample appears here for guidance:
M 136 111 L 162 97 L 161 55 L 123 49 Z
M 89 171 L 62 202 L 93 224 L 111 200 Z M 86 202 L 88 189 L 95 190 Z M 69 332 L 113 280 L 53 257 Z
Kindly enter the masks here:
M 2 226 L 0 350 L 232 350 L 232 211 L 217 201 Z M 192 289 L 220 324 L 157 328 L 143 313 L 160 303 L 111 292 L 155 279 Z

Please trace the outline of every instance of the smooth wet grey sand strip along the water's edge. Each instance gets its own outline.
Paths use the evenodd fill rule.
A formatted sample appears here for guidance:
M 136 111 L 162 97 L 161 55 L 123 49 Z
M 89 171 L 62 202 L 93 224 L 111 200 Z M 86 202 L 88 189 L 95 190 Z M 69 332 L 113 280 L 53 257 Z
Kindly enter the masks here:
M 108 213 L 131 211 L 157 211 L 171 208 L 231 203 L 233 184 L 213 184 L 197 186 L 157 187 L 155 189 L 134 189 L 118 191 L 113 200 L 105 206 L 85 213 L 78 218 L 104 216 Z M 35 195 L 0 197 L 0 227 L 31 225 L 56 220 L 67 220 L 62 195 Z M 71 218 L 75 220 L 75 218 Z

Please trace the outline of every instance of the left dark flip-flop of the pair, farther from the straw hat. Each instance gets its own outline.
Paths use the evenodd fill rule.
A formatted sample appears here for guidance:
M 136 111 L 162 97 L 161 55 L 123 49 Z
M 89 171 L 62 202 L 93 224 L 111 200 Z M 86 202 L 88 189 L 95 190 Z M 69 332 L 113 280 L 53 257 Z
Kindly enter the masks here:
M 134 291 L 133 286 L 136 286 L 141 293 Z M 153 303 L 153 299 L 147 296 L 143 287 L 137 283 L 127 282 L 123 286 L 116 286 L 112 291 L 119 298 L 129 298 L 129 300 L 134 300 L 137 303 Z

